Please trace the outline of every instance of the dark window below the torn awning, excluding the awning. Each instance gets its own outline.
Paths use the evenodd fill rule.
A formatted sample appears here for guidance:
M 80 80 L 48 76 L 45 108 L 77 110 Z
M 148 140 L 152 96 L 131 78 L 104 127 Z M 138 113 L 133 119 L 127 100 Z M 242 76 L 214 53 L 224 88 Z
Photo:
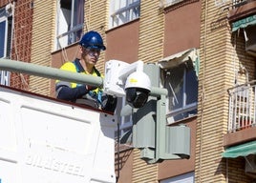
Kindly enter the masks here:
M 198 80 L 191 62 L 165 71 L 164 87 L 168 90 L 169 122 L 197 113 Z

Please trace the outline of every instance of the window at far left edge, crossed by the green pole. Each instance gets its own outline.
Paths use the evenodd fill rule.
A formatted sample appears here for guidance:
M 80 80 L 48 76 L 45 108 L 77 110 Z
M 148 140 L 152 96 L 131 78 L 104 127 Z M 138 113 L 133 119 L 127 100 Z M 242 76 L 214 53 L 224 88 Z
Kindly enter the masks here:
M 0 58 L 10 58 L 11 19 L 11 13 L 0 9 Z M 0 71 L 0 84 L 10 85 L 10 71 Z

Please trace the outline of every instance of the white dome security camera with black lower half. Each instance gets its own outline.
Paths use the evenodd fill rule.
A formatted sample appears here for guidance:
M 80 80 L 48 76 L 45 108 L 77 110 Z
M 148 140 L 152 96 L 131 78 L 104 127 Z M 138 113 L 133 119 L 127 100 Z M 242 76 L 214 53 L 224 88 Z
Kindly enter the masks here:
M 133 108 L 141 108 L 147 102 L 150 88 L 151 82 L 146 73 L 133 72 L 127 77 L 125 83 L 126 101 Z

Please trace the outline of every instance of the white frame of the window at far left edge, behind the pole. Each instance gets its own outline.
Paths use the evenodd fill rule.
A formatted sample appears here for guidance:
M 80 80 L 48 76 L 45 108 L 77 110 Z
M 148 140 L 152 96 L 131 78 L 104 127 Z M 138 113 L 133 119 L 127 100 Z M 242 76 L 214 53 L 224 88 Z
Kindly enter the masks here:
M 0 58 L 7 58 L 10 55 L 7 55 L 8 53 L 8 47 L 9 47 L 9 43 L 8 43 L 8 37 L 11 35 L 9 35 L 9 33 L 11 32 L 11 30 L 9 30 L 9 16 L 11 16 L 11 14 L 8 14 L 4 9 L 0 10 L 0 23 L 5 24 L 5 32 L 1 32 L 1 36 L 3 36 L 4 34 L 4 43 L 3 43 L 3 55 L 0 55 Z M 11 22 L 12 23 L 12 22 Z M 11 44 L 10 44 L 11 46 Z M 6 85 L 6 86 L 10 86 L 10 71 L 0 71 L 0 84 L 1 85 Z

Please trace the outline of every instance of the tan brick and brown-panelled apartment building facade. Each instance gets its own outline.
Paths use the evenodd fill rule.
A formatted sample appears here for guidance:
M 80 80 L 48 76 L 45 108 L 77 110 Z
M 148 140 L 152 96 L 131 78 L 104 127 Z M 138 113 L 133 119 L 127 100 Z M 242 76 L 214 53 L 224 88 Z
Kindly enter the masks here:
M 11 2 L 11 59 L 53 68 L 75 59 L 76 42 L 61 49 L 55 47 L 58 2 L 62 1 Z M 110 59 L 160 63 L 168 58 L 176 62 L 175 58 L 181 61 L 182 51 L 199 52 L 197 113 L 168 123 L 190 128 L 190 158 L 147 164 L 132 144 L 122 145 L 116 154 L 118 182 L 182 182 L 185 177 L 188 182 L 199 183 L 255 181 L 245 173 L 245 155 L 230 158 L 222 154 L 230 147 L 256 139 L 254 119 L 245 129 L 230 129 L 228 92 L 255 79 L 256 58 L 245 51 L 243 29 L 233 31 L 232 27 L 234 22 L 255 15 L 256 4 L 241 1 L 244 3 L 235 6 L 231 1 L 218 2 L 140 0 L 139 17 L 111 27 L 109 13 L 113 12 L 113 1 L 85 1 L 83 32 L 100 32 L 107 46 L 96 66 L 100 71 L 104 71 L 104 62 Z M 0 8 L 9 3 L 1 1 Z M 54 96 L 54 81 L 37 76 L 12 72 L 11 87 Z M 172 112 L 167 118 L 172 118 Z

